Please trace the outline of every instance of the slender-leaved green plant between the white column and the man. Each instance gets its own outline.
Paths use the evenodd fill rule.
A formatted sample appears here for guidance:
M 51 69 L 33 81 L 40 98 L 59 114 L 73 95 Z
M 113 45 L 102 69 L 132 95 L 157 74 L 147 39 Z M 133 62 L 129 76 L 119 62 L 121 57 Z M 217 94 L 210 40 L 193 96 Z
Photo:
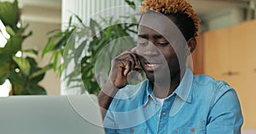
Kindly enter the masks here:
M 136 5 L 134 2 L 125 0 L 125 3 L 135 9 Z M 53 69 L 58 70 L 59 74 L 62 75 L 64 81 L 66 81 L 66 87 L 69 87 L 74 81 L 79 84 L 73 85 L 73 87 L 80 87 L 80 93 L 84 93 L 87 90 L 89 93 L 97 94 L 100 91 L 98 81 L 96 79 L 96 64 L 97 59 L 102 53 L 102 49 L 109 44 L 115 44 L 114 48 L 119 51 L 112 51 L 111 53 L 106 54 L 102 58 L 102 65 L 104 72 L 108 72 L 110 67 L 110 61 L 104 59 L 111 59 L 113 55 L 117 55 L 120 50 L 127 50 L 131 46 L 135 46 L 131 35 L 135 34 L 134 31 L 137 28 L 137 14 L 127 14 L 123 16 L 127 20 L 131 20 L 134 23 L 119 23 L 119 20 L 113 20 L 113 18 L 102 18 L 101 21 L 90 20 L 89 25 L 84 25 L 83 21 L 79 18 L 78 15 L 73 14 L 70 17 L 66 29 L 63 31 L 50 31 L 49 32 L 49 41 L 44 47 L 42 57 L 44 58 L 45 53 L 52 53 L 52 58 L 49 60 L 49 64 L 54 64 Z M 79 24 L 73 24 L 73 18 L 79 20 Z M 108 25 L 107 28 L 102 27 L 101 25 Z M 87 36 L 84 39 L 84 36 Z M 125 37 L 124 40 L 117 40 L 118 38 Z M 113 42 L 115 41 L 115 42 Z M 80 42 L 79 47 L 75 47 L 74 43 Z M 113 47 L 109 45 L 108 47 Z M 86 49 L 86 53 L 81 60 L 81 53 Z M 113 49 L 113 48 L 109 48 Z M 68 51 L 68 53 L 67 53 Z M 58 58 L 64 58 L 59 66 Z M 74 59 L 74 60 L 73 60 Z M 73 61 L 72 61 L 73 60 Z M 65 72 L 63 70 L 67 69 L 67 65 L 71 62 L 76 64 L 72 72 Z M 106 66 L 106 67 L 103 67 Z

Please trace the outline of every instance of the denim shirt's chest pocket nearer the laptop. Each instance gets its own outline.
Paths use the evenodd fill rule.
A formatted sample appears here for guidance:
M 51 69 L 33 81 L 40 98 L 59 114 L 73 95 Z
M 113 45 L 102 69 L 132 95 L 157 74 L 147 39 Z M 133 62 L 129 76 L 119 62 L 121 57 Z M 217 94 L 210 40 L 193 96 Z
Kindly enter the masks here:
M 130 128 L 125 129 L 119 129 L 117 130 L 119 134 L 125 134 L 125 133 L 133 133 L 133 134 L 144 134 L 147 133 L 147 127 L 146 126 L 134 126 Z

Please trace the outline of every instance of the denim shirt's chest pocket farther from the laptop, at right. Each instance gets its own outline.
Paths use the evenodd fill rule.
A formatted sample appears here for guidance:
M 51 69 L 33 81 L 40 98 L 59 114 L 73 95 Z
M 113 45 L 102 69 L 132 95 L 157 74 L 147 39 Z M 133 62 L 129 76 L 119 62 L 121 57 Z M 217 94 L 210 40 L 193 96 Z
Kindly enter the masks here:
M 196 127 L 182 127 L 182 128 L 177 128 L 173 130 L 173 133 L 175 134 L 206 134 L 207 129 L 206 129 L 206 122 L 205 120 L 201 120 L 198 126 Z

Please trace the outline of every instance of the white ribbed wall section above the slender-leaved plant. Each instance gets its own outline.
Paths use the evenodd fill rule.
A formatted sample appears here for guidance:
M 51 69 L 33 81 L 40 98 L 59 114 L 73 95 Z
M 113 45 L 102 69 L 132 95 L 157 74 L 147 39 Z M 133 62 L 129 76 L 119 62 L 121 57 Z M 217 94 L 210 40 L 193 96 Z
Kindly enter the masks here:
M 134 3 L 140 5 L 139 1 L 134 1 Z M 127 5 L 125 0 L 62 0 L 62 27 L 67 24 L 69 16 L 72 14 L 77 14 L 84 21 L 90 18 L 100 17 L 100 15 L 102 15 L 102 17 L 106 17 L 109 14 L 116 14 L 116 16 L 118 16 L 118 14 L 125 14 L 132 11 L 130 8 L 119 8 L 113 13 L 109 12 L 111 8 L 118 8 L 123 5 Z M 78 21 L 74 23 L 76 22 Z

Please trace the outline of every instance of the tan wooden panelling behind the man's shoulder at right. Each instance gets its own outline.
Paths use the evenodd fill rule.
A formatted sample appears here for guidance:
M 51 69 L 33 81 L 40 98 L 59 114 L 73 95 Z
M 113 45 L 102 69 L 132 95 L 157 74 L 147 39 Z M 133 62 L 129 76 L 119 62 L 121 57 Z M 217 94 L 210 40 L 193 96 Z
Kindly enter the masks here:
M 204 73 L 234 87 L 241 102 L 244 129 L 256 128 L 256 20 L 208 31 L 203 36 Z

